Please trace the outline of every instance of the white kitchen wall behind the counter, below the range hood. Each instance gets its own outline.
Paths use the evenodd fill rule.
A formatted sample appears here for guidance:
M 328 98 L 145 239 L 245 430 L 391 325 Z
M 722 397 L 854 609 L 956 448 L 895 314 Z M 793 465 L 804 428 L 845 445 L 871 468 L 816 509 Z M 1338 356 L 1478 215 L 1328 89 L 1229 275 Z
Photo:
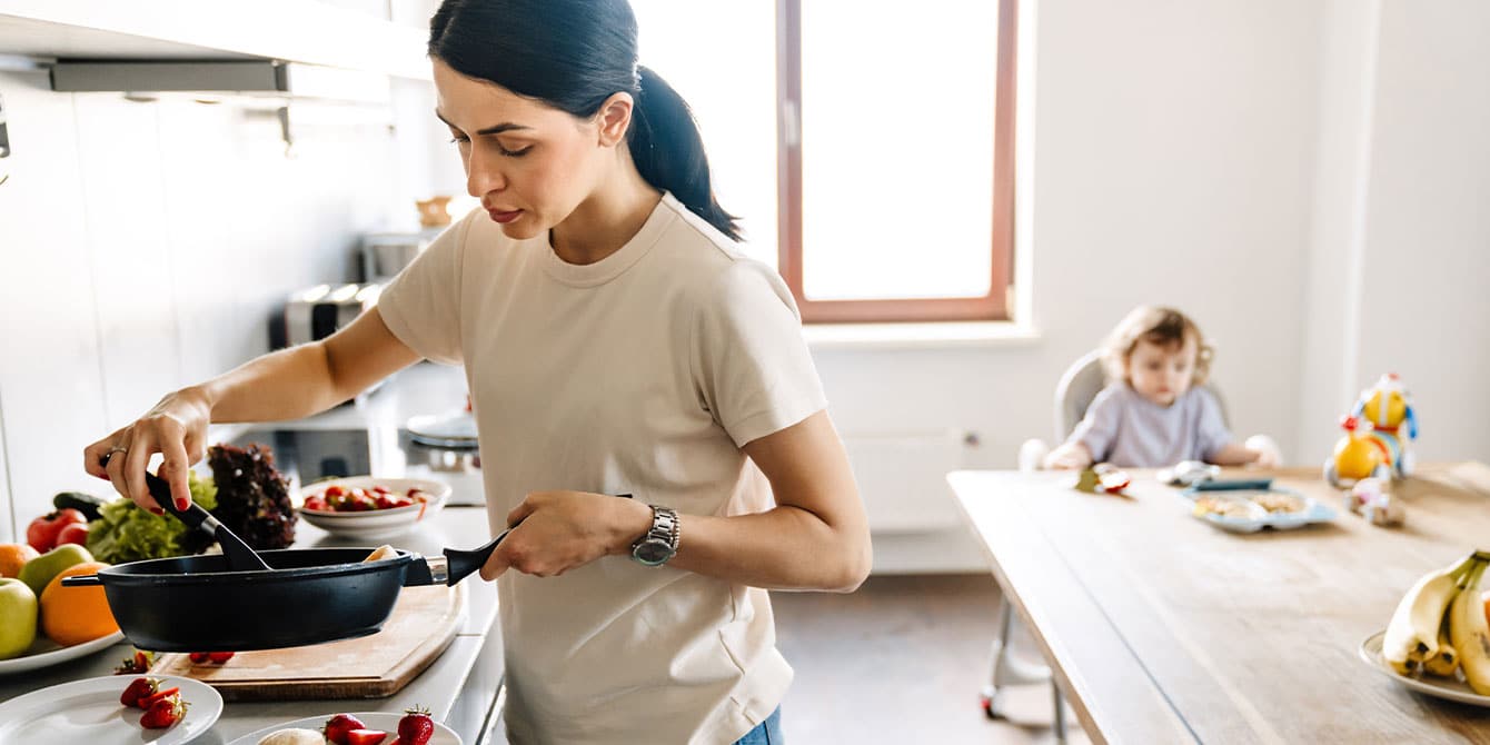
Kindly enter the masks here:
M 0 541 L 64 489 L 82 448 L 186 381 L 268 349 L 294 289 L 352 277 L 395 212 L 384 128 L 299 133 L 229 104 L 57 94 L 0 73 Z M 408 207 L 411 210 L 411 206 Z

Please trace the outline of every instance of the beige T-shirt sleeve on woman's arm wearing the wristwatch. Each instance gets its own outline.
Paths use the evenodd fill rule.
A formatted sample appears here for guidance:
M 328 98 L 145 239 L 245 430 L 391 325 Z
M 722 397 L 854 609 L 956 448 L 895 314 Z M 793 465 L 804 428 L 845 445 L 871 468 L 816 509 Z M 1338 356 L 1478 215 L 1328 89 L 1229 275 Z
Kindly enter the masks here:
M 699 288 L 691 367 L 699 396 L 736 446 L 827 407 L 802 319 L 781 277 L 736 259 Z

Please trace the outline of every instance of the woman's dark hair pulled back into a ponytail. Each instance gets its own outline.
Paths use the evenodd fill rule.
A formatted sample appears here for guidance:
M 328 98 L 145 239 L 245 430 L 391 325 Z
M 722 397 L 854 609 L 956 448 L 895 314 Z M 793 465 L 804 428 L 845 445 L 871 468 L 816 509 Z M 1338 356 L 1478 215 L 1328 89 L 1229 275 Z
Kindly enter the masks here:
M 687 101 L 636 64 L 636 16 L 626 0 L 444 0 L 429 21 L 429 55 L 583 119 L 612 94 L 632 94 L 627 137 L 642 179 L 741 240 L 736 218 L 714 198 Z

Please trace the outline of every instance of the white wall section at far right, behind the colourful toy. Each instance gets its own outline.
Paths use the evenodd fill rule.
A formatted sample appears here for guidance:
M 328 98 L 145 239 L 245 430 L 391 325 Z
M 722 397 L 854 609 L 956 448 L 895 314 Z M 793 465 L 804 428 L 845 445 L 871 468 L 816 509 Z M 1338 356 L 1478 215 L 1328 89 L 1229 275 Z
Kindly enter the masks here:
M 1395 370 L 1427 460 L 1490 460 L 1490 4 L 1381 7 L 1356 381 Z

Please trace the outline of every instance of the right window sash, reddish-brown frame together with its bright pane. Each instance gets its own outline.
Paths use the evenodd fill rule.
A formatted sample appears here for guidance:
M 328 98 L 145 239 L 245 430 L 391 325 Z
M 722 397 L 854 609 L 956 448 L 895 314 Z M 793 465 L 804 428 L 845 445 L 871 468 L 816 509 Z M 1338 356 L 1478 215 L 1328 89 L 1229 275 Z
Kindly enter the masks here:
M 1007 319 L 1015 0 L 778 0 L 779 268 L 808 322 Z

